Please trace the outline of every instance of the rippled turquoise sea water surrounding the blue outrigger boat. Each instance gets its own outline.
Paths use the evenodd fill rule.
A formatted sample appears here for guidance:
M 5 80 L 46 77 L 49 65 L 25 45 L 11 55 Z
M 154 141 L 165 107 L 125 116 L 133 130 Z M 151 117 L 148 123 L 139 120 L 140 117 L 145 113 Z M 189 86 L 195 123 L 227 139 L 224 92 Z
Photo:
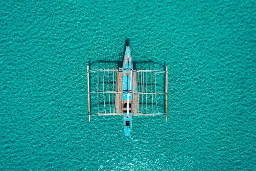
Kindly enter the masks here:
M 0 170 L 255 170 L 255 26 L 253 0 L 1 1 Z M 86 66 L 127 38 L 169 71 L 168 122 L 130 139 L 87 117 Z

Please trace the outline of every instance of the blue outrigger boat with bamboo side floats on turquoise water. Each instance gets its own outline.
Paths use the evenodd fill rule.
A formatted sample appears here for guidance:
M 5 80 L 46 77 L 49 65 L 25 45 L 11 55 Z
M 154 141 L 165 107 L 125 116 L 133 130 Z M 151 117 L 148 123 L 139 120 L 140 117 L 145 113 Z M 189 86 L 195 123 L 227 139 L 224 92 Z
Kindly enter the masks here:
M 93 81 L 97 78 L 97 86 L 91 89 L 90 78 L 94 78 Z M 130 46 L 126 46 L 122 67 L 118 70 L 89 70 L 87 66 L 89 122 L 91 116 L 122 115 L 124 136 L 131 137 L 132 116 L 165 115 L 167 121 L 167 78 L 167 67 L 165 71 L 134 70 Z M 159 79 L 165 81 L 165 87 L 157 91 Z M 97 105 L 90 104 L 90 97 L 97 99 Z M 163 99 L 165 104 L 161 105 Z

